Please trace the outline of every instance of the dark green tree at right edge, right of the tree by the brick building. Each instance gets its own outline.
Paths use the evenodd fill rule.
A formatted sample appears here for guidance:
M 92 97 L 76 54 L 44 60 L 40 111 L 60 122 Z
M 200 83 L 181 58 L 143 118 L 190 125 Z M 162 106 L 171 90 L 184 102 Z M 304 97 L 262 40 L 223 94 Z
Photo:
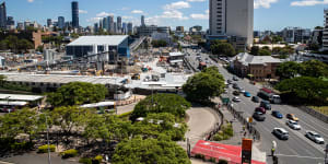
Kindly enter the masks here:
M 304 77 L 328 77 L 328 65 L 319 60 L 309 60 L 302 63 L 303 70 L 301 72 Z

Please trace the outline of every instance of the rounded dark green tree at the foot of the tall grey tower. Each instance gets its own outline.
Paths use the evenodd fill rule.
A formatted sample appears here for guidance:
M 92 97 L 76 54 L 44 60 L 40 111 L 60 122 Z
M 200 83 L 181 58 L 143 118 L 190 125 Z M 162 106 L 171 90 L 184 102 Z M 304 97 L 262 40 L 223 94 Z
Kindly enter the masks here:
M 225 55 L 233 57 L 236 55 L 235 48 L 229 43 L 216 43 L 211 46 L 213 55 Z

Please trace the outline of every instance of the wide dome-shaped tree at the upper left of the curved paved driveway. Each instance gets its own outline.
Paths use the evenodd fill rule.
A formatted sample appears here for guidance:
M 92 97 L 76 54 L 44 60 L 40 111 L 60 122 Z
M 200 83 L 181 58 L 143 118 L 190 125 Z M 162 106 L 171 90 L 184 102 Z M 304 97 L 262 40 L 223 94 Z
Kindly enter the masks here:
M 139 117 L 147 117 L 152 113 L 169 113 L 177 118 L 184 118 L 190 103 L 176 94 L 154 94 L 139 102 L 131 114 L 131 120 Z

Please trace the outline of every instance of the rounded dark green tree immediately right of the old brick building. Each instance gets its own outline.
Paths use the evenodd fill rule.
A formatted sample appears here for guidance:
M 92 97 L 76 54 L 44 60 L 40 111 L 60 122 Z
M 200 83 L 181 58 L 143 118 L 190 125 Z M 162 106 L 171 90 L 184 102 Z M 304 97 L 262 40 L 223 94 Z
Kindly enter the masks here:
M 300 74 L 302 66 L 295 61 L 286 61 L 281 63 L 277 70 L 276 74 L 280 77 L 280 80 L 292 79 Z

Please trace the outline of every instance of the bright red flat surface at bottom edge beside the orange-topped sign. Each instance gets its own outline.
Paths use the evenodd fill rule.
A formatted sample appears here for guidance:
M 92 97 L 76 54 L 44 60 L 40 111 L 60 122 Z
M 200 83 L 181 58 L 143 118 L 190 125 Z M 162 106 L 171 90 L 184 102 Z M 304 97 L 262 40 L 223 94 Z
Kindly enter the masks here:
M 222 143 L 208 142 L 199 140 L 191 151 L 191 155 L 202 154 L 207 159 L 214 157 L 216 160 L 226 160 L 230 164 L 241 164 L 242 147 L 229 145 Z M 251 164 L 266 164 L 251 160 Z

